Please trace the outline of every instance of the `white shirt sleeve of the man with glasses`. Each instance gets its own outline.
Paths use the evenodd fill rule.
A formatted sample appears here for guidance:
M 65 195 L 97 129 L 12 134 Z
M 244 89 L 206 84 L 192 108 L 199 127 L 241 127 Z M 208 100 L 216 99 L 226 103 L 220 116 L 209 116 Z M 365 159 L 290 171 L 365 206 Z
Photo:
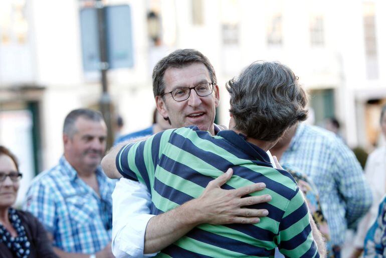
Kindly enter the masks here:
M 143 254 L 145 231 L 150 213 L 151 196 L 146 186 L 121 178 L 113 199 L 112 251 L 115 257 L 151 257 Z

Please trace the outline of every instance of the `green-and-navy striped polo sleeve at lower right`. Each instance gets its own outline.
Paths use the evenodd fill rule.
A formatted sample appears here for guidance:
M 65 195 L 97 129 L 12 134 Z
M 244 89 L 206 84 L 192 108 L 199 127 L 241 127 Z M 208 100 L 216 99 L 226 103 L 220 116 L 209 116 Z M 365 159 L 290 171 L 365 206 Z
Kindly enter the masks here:
M 304 196 L 296 189 L 280 221 L 279 250 L 286 257 L 319 257 Z

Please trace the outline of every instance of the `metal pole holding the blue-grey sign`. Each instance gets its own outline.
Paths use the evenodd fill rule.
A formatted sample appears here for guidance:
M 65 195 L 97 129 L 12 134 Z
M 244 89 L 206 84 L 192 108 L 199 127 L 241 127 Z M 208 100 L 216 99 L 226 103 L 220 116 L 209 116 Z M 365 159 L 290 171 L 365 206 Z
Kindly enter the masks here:
M 101 0 L 97 0 L 95 7 L 98 12 L 98 34 L 99 34 L 99 53 L 100 53 L 100 71 L 101 71 L 101 84 L 102 84 L 102 96 L 100 98 L 100 110 L 105 119 L 107 125 L 107 149 L 109 149 L 114 141 L 113 134 L 113 115 L 111 112 L 111 98 L 108 93 L 107 85 L 107 70 L 109 69 L 109 63 L 107 60 L 107 47 L 106 47 L 106 18 L 105 9 Z

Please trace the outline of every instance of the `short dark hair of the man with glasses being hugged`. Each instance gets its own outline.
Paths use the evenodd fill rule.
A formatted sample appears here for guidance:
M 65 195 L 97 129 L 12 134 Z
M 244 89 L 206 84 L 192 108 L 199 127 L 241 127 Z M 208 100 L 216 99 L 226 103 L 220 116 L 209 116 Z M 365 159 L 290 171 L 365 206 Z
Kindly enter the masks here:
M 212 82 L 217 83 L 215 69 L 206 56 L 195 49 L 177 49 L 162 58 L 154 66 L 152 75 L 154 97 L 164 93 L 165 83 L 163 75 L 165 74 L 167 68 L 183 68 L 192 63 L 204 64 L 208 68 L 209 76 L 211 77 Z

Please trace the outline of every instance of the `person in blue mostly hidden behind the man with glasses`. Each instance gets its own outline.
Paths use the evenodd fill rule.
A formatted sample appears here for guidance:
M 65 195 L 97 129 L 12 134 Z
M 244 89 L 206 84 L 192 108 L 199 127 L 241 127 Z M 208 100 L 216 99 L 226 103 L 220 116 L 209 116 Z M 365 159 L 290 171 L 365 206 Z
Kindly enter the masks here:
M 140 137 L 148 137 L 154 135 L 158 132 L 161 132 L 166 129 L 170 129 L 171 125 L 167 119 L 164 119 L 162 115 L 158 112 L 157 108 L 154 108 L 153 111 L 153 123 L 151 126 L 144 128 L 143 130 L 133 132 L 124 136 L 119 137 L 114 145 L 129 141 L 131 139 L 140 138 Z

